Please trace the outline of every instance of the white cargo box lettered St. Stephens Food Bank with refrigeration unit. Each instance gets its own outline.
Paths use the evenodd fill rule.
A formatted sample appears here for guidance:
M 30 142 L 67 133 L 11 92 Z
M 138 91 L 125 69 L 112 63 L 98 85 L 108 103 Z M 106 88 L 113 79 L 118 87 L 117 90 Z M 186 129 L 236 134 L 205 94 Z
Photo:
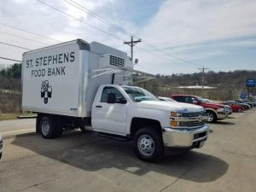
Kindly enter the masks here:
M 90 117 L 100 84 L 130 83 L 131 70 L 117 73 L 112 82 L 113 74 L 108 72 L 119 67 L 132 69 L 125 52 L 80 39 L 28 51 L 22 58 L 22 108 Z

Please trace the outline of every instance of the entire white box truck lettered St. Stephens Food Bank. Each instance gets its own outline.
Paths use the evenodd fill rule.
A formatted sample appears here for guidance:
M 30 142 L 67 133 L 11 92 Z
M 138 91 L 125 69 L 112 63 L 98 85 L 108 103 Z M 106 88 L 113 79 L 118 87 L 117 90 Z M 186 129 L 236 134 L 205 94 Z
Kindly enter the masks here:
M 131 85 L 127 54 L 81 39 L 28 51 L 22 58 L 22 108 L 37 112 L 42 137 L 91 126 L 104 137 L 133 141 L 142 160 L 166 148 L 200 148 L 208 137 L 204 108 L 161 102 Z

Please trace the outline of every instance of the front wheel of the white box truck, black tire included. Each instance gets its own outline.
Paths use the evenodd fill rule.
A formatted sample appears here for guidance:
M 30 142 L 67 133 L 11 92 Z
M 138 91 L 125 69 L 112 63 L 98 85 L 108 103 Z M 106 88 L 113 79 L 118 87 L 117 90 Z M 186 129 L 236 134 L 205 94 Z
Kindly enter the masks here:
M 148 162 L 158 161 L 164 156 L 162 136 L 152 127 L 143 127 L 135 133 L 133 148 L 141 160 Z

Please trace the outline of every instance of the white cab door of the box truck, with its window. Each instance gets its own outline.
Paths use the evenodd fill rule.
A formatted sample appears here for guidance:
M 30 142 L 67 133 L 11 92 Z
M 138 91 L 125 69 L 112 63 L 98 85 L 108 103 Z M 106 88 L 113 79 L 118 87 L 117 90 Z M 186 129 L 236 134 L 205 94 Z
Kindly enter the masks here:
M 108 94 L 116 95 L 115 103 L 108 103 Z M 120 133 L 125 135 L 127 104 L 124 96 L 115 87 L 107 86 L 102 90 L 102 96 L 99 101 L 93 105 L 92 125 L 96 131 L 106 131 Z

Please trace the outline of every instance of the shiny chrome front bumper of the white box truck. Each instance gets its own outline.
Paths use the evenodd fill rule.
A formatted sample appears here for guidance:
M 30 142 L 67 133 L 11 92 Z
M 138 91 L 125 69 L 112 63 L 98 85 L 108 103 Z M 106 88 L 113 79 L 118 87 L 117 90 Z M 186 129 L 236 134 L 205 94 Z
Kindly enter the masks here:
M 198 129 L 162 128 L 165 147 L 172 148 L 201 148 L 207 140 L 209 127 L 204 125 Z

